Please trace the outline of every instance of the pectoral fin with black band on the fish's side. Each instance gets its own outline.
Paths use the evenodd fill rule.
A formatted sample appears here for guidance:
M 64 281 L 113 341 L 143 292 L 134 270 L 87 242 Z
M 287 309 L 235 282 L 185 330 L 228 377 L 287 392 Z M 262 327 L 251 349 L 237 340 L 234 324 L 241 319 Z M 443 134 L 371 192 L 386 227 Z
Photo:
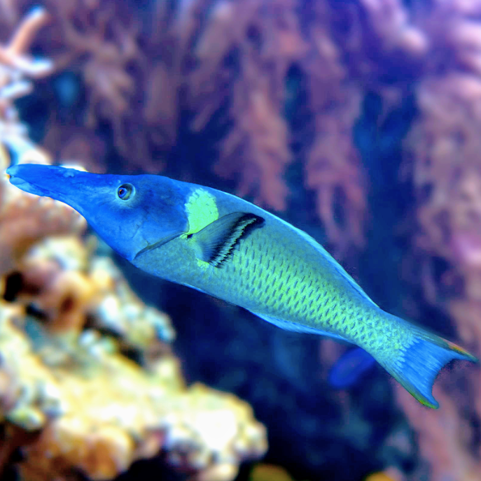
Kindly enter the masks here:
M 264 219 L 258 215 L 235 212 L 224 215 L 187 237 L 195 241 L 199 251 L 197 257 L 201 261 L 220 267 L 239 240 L 245 238 L 253 227 L 260 227 L 263 222 Z

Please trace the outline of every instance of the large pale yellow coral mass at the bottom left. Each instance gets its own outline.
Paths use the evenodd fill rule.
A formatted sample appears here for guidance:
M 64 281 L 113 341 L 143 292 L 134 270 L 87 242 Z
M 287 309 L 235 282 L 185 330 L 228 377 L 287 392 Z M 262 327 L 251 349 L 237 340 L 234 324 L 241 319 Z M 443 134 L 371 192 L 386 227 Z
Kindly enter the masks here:
M 25 447 L 25 479 L 64 479 L 72 468 L 109 479 L 161 448 L 171 464 L 195 471 L 214 459 L 234 468 L 265 451 L 249 405 L 202 385 L 187 389 L 172 355 L 144 370 L 95 331 L 53 336 L 6 303 L 0 316 L 0 379 L 8 380 L 0 410 L 26 431 L 41 429 Z

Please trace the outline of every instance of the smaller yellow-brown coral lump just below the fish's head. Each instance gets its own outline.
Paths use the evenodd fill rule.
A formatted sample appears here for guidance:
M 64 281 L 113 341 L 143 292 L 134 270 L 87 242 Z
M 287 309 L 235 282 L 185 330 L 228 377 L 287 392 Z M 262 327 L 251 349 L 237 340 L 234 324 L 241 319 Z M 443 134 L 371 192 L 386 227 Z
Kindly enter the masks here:
M 171 342 L 169 317 L 145 306 L 109 257 L 92 257 L 92 247 L 76 236 L 37 242 L 13 271 L 20 275 L 15 301 L 41 310 L 48 330 L 57 334 L 78 336 L 90 316 L 97 328 L 130 347 L 145 350 L 160 340 Z

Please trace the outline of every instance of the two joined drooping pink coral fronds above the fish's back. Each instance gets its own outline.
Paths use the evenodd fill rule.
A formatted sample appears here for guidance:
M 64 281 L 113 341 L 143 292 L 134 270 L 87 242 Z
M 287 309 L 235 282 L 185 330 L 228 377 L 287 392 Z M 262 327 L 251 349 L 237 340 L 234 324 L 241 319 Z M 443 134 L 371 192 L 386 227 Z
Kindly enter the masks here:
M 300 27 L 298 8 L 294 0 L 218 4 L 197 45 L 200 65 L 192 74 L 194 101 L 202 94 L 199 85 L 206 86 L 204 95 L 205 89 L 214 92 L 212 82 L 199 80 L 202 75 L 207 79 L 212 62 L 217 71 L 214 85 L 224 91 L 228 74 L 219 75 L 226 70 L 221 61 L 237 52 L 239 75 L 233 82 L 230 108 L 235 124 L 222 143 L 215 168 L 219 174 L 238 180 L 240 195 L 251 194 L 263 206 L 284 210 L 288 198 L 284 175 L 293 159 L 284 118 L 285 85 L 289 69 L 298 66 L 302 70 L 307 76 L 316 133 L 307 156 L 306 185 L 316 190 L 319 217 L 330 241 L 343 252 L 347 245 L 363 243 L 365 189 L 351 142 L 360 96 L 346 82 L 347 71 L 330 34 L 328 5 L 316 2 L 312 19 L 306 22 L 307 32 Z M 222 36 L 215 55 L 209 55 L 208 47 L 214 45 L 212 39 L 220 31 L 230 31 L 230 35 Z M 206 117 L 202 115 L 201 125 Z M 336 211 L 342 212 L 344 222 Z

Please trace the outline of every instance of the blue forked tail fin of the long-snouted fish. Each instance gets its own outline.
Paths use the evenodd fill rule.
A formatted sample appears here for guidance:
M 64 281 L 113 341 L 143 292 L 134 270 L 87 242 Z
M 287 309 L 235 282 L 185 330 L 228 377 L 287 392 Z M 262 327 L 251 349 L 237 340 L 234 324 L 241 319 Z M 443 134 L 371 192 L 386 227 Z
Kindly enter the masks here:
M 414 327 L 414 342 L 397 359 L 389 359 L 382 365 L 393 378 L 412 394 L 417 401 L 429 408 L 439 408 L 432 394 L 435 378 L 442 366 L 452 359 L 477 362 L 477 358 L 458 345 L 433 333 Z

